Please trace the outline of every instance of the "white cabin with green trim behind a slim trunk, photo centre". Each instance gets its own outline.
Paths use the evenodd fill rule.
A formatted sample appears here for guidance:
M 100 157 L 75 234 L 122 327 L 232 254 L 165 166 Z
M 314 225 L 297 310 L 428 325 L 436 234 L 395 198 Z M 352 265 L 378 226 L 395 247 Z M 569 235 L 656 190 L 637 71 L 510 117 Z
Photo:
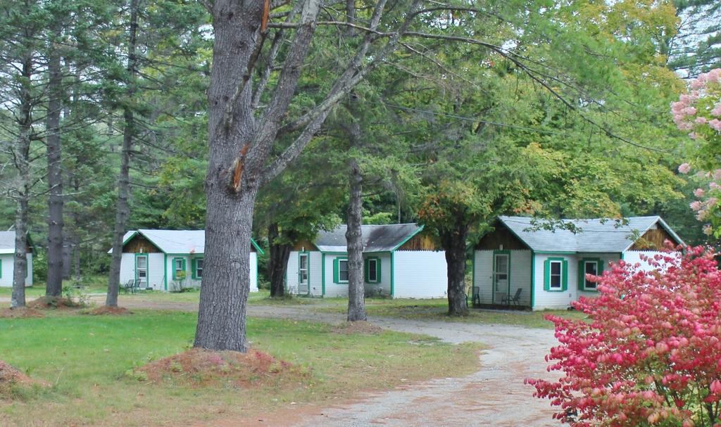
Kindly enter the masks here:
M 286 286 L 293 295 L 348 296 L 345 225 L 298 241 L 288 259 Z M 445 297 L 446 256 L 416 224 L 363 225 L 366 294 L 393 298 Z

